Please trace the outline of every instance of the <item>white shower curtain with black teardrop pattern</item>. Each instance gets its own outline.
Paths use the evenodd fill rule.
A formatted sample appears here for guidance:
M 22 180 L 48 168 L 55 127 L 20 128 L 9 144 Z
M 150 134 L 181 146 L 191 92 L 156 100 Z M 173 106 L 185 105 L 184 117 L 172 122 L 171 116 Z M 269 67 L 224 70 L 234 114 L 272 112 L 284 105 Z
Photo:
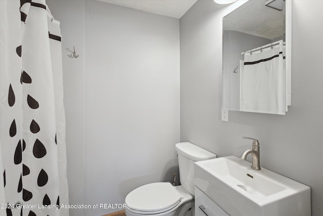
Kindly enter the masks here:
M 0 215 L 68 215 L 60 23 L 0 1 Z

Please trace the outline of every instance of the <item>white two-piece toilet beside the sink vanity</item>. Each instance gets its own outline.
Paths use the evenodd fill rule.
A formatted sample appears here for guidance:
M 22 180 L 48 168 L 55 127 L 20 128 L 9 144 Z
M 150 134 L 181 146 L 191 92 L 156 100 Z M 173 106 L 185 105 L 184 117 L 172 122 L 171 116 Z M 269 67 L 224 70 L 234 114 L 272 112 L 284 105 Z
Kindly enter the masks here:
M 178 143 L 175 149 L 181 185 L 157 182 L 134 189 L 126 196 L 127 216 L 194 215 L 194 162 L 216 158 L 217 155 L 189 142 Z

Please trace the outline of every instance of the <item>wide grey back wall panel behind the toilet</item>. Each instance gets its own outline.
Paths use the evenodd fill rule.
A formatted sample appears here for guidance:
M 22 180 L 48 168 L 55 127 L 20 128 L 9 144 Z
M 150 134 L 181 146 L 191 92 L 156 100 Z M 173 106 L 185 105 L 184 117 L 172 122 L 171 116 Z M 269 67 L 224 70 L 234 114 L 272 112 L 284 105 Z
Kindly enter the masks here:
M 124 203 L 177 170 L 179 20 L 85 1 L 84 45 L 85 203 Z

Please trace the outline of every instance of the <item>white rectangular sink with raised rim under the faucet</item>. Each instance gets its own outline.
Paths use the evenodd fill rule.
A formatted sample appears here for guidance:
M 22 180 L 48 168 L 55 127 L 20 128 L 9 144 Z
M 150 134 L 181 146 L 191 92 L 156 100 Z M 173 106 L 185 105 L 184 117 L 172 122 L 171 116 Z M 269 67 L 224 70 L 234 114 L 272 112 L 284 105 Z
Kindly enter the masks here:
M 195 185 L 231 216 L 311 215 L 308 186 L 236 156 L 195 162 Z

